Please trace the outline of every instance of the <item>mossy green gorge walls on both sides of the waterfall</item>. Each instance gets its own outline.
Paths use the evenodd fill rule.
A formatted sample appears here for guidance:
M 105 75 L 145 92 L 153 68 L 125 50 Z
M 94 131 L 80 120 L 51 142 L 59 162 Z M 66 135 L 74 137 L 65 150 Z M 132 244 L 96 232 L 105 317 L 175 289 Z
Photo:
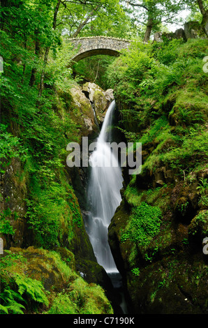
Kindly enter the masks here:
M 1 312 L 122 313 L 86 232 L 89 167 L 66 165 L 68 142 L 96 140 L 115 100 L 114 140 L 142 143 L 142 172 L 122 168 L 108 228 L 128 313 L 207 313 L 206 51 L 206 39 L 135 41 L 106 91 L 70 80 L 45 82 L 38 104 L 4 96 Z

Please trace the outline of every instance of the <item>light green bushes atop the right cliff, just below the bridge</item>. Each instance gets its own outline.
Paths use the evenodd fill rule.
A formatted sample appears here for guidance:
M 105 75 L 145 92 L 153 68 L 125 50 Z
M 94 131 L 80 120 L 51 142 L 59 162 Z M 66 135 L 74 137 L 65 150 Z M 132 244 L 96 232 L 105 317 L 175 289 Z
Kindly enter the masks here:
M 129 110 L 133 110 L 131 103 L 135 103 L 138 114 L 139 110 L 151 114 L 153 100 L 161 104 L 170 90 L 186 84 L 187 79 L 190 84 L 192 79 L 197 79 L 200 85 L 205 82 L 202 58 L 206 55 L 206 47 L 207 40 L 190 40 L 187 43 L 170 40 L 153 45 L 135 42 L 133 49 L 124 52 L 109 66 L 109 83 L 115 93 L 128 102 Z M 199 51 L 193 54 L 192 51 L 198 48 Z M 149 98 L 152 100 L 149 101 Z M 146 104 L 142 109 L 140 103 L 143 105 L 145 102 L 149 106 Z

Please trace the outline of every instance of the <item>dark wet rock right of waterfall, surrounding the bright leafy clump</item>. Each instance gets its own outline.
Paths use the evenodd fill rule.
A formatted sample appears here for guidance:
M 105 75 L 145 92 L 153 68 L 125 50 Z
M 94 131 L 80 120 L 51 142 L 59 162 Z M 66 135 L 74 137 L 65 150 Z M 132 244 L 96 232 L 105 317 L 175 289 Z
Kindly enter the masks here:
M 208 211 L 199 202 L 200 177 L 207 177 L 206 169 L 188 183 L 164 166 L 138 176 L 138 195 L 148 190 L 148 181 L 153 188 L 151 197 L 155 195 L 151 205 L 160 204 L 163 209 L 160 232 L 147 246 L 122 239 L 132 215 L 132 204 L 124 191 L 108 236 L 114 260 L 126 282 L 131 313 L 207 313 L 208 255 L 203 253 L 202 241 L 207 237 Z M 144 195 L 142 201 L 151 203 Z

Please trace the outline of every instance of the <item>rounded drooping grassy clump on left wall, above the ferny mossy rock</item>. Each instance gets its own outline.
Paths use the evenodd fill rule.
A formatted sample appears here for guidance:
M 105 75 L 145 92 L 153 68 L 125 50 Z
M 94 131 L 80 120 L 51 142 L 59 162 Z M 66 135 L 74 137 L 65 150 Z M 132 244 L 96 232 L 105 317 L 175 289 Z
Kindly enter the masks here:
M 59 246 L 62 234 L 71 237 L 73 224 L 82 226 L 82 216 L 70 186 L 64 181 L 54 181 L 40 188 L 40 181 L 33 180 L 31 199 L 27 199 L 27 216 L 39 246 Z

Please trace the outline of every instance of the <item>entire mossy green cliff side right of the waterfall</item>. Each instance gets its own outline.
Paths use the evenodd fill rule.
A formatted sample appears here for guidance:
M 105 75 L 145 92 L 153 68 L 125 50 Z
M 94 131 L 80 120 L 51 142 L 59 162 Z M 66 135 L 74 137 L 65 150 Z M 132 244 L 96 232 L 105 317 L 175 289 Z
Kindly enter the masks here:
M 109 227 L 132 313 L 207 313 L 206 48 L 207 39 L 138 43 L 109 68 L 118 126 L 142 143 L 142 171 L 124 170 Z

